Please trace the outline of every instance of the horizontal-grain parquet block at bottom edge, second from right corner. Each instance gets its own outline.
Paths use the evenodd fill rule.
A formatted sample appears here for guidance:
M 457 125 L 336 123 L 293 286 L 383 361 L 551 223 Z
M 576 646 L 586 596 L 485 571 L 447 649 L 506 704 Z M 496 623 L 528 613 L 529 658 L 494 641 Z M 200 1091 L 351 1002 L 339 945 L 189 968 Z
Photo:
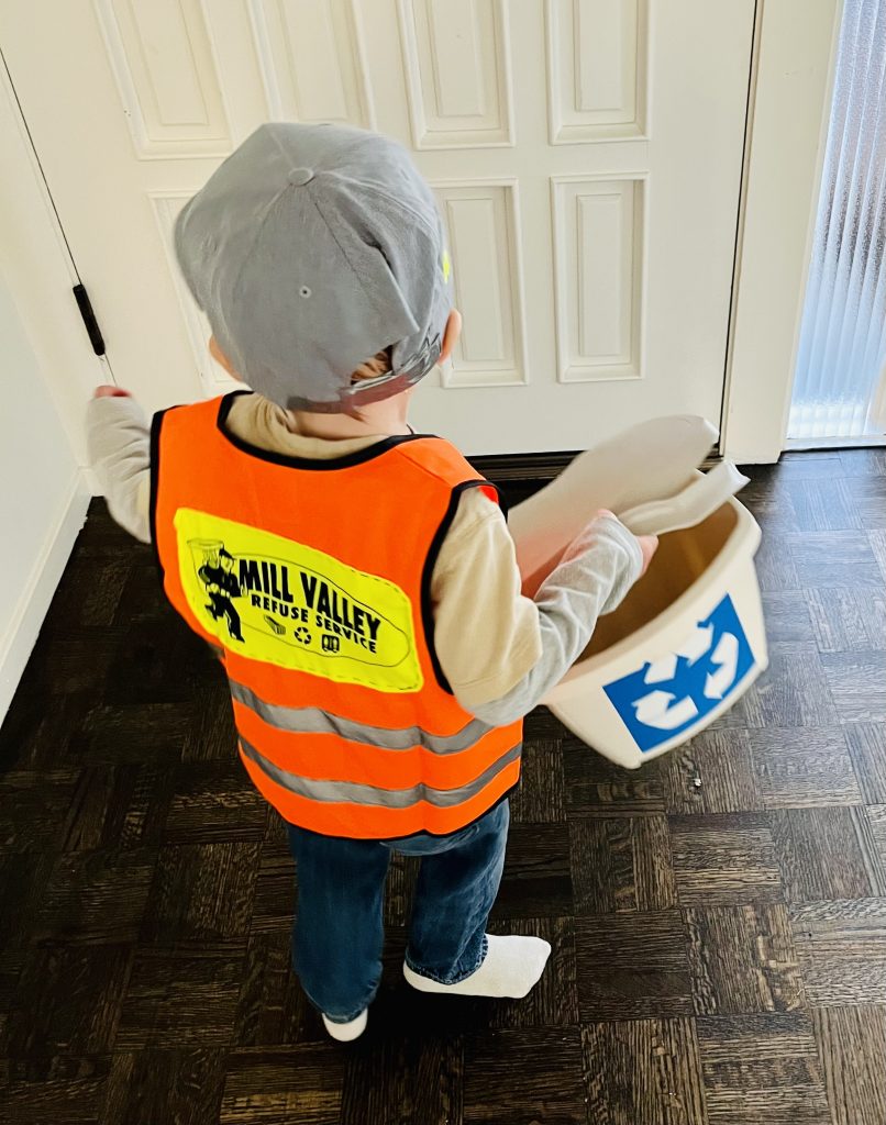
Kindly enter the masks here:
M 709 1125 L 832 1125 L 805 1012 L 697 1023 Z

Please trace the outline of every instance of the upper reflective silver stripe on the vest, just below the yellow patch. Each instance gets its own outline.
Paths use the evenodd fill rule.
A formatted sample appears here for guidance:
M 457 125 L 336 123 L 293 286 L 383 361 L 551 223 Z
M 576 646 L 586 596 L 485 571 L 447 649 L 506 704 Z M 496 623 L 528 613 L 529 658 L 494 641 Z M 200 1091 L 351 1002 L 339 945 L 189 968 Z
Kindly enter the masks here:
M 423 746 L 432 754 L 457 754 L 474 746 L 494 727 L 480 719 L 456 731 L 455 735 L 430 735 L 420 727 L 369 727 L 363 722 L 353 722 L 341 716 L 322 711 L 315 706 L 283 706 L 279 703 L 267 703 L 247 687 L 231 681 L 231 695 L 238 703 L 254 711 L 270 727 L 297 735 L 338 735 L 349 742 L 364 742 L 366 746 L 377 746 L 383 750 L 411 750 L 413 746 Z

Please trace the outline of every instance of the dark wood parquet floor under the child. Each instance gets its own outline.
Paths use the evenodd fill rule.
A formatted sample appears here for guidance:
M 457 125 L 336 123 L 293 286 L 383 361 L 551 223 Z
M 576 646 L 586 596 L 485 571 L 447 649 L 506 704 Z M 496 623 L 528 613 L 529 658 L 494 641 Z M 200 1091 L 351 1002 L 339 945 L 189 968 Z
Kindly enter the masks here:
M 289 973 L 218 668 L 97 505 L 0 735 L 0 1119 L 885 1125 L 886 453 L 745 497 L 771 672 L 639 773 L 533 714 L 494 925 L 552 940 L 543 983 L 411 992 L 397 862 L 346 1047 Z

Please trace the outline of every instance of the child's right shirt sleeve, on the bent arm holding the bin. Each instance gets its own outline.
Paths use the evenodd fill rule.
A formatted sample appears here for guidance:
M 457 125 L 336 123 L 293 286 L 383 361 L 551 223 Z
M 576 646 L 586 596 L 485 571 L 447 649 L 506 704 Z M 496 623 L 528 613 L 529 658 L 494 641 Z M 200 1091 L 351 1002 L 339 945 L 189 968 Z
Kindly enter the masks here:
M 598 618 L 639 577 L 643 556 L 615 516 L 590 524 L 543 583 L 520 593 L 513 541 L 498 505 L 465 493 L 431 583 L 435 645 L 456 699 L 490 723 L 542 702 L 588 645 Z

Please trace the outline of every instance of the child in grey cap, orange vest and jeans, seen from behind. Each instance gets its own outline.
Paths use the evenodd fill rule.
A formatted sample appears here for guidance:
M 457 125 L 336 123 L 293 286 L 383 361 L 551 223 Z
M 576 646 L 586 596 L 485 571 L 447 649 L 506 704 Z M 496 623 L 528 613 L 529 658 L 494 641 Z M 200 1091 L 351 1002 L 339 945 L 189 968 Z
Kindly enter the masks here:
M 182 210 L 176 251 L 213 356 L 252 393 L 149 435 L 99 388 L 90 449 L 113 515 L 222 655 L 243 766 L 297 863 L 295 971 L 356 1038 L 395 849 L 423 857 L 409 983 L 526 996 L 549 945 L 486 934 L 521 720 L 655 541 L 602 513 L 522 597 L 495 488 L 408 425 L 460 320 L 433 196 L 394 142 L 265 125 Z

